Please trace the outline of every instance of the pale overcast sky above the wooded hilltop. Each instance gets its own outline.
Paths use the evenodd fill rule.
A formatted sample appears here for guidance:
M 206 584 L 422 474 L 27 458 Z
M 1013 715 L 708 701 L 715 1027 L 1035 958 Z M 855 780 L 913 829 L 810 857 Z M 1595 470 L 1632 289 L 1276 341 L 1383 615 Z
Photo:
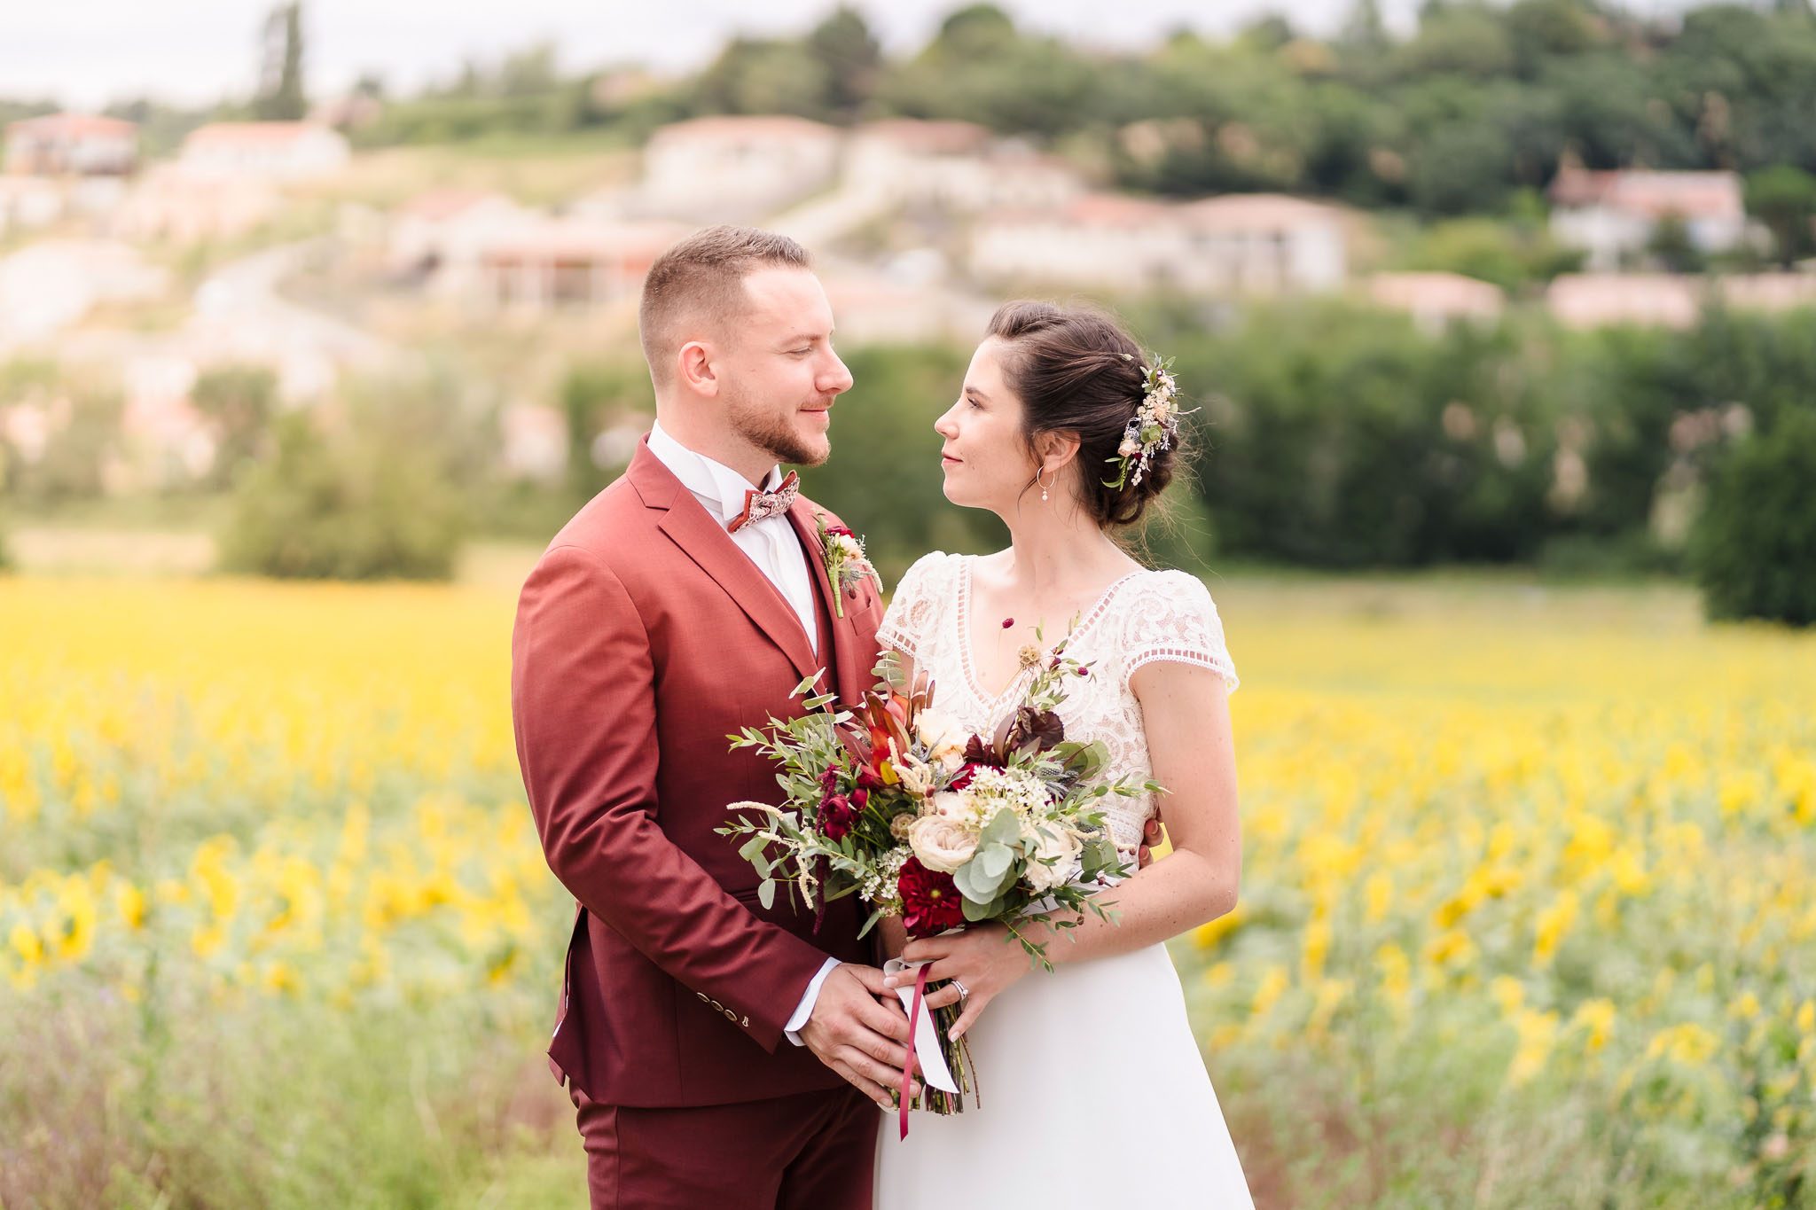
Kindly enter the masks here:
M 272 0 L 0 0 L 0 96 L 93 109 L 151 94 L 207 102 L 247 94 Z M 854 0 L 892 51 L 921 45 L 961 0 Z M 1224 33 L 1268 11 L 1308 29 L 1353 0 L 999 0 L 1028 27 L 1095 45 L 1140 45 L 1180 25 Z M 467 58 L 552 40 L 567 69 L 643 62 L 694 67 L 737 33 L 799 33 L 835 0 L 305 0 L 309 87 L 345 89 L 363 71 L 394 91 L 445 78 Z M 1418 0 L 1382 0 L 1406 24 Z M 1631 0 L 1636 11 L 1687 0 Z M 1113 13 L 1113 16 L 1106 16 Z

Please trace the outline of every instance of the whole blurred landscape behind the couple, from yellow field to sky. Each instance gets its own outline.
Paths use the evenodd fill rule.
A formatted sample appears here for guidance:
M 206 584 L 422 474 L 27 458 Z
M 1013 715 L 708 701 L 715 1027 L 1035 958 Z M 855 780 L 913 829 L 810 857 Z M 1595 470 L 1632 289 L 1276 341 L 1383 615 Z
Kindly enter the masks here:
M 997 303 L 1177 359 L 1260 1206 L 1816 1203 L 1811 2 L 746 7 L 0 15 L 0 1206 L 581 1203 L 510 613 L 716 221 L 886 581 Z

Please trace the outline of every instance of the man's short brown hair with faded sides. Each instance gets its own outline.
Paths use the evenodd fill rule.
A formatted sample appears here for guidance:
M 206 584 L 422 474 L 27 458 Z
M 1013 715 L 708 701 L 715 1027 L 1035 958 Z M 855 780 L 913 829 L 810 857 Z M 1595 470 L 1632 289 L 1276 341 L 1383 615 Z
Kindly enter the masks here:
M 716 325 L 737 314 L 745 276 L 765 265 L 810 268 L 812 261 L 788 236 L 755 227 L 708 227 L 656 258 L 643 279 L 637 336 L 657 386 L 668 381 L 676 354 L 703 321 Z

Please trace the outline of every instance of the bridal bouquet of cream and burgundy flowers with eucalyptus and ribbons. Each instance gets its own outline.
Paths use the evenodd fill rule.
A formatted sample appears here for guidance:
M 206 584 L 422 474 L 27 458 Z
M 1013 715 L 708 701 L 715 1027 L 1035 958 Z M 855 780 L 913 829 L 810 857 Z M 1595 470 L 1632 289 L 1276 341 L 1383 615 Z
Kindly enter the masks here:
M 763 905 L 781 883 L 815 912 L 817 931 L 826 903 L 857 894 L 870 907 L 859 936 L 884 916 L 901 916 L 915 938 L 997 922 L 1048 971 L 1046 945 L 1028 923 L 1051 918 L 1055 929 L 1073 929 L 1081 911 L 1113 918 L 1095 894 L 1130 867 L 1102 800 L 1160 787 L 1102 778 L 1102 742 L 1066 738 L 1055 711 L 1066 684 L 1090 677 L 1090 666 L 1070 659 L 1064 640 L 1044 657 L 1028 648 L 1022 659 L 1035 677 L 990 737 L 964 735 L 935 711 L 924 677 L 904 686 L 893 653 L 877 662 L 879 684 L 855 711 L 835 709 L 834 695 L 808 697 L 799 718 L 730 737 L 734 749 L 772 758 L 786 793 L 779 807 L 732 804 L 737 822 L 719 829 L 745 836 L 739 854 L 763 878 Z M 812 684 L 801 682 L 795 695 Z M 970 1049 L 948 1038 L 957 1005 L 933 1010 L 928 1030 L 919 1029 L 924 992 L 921 967 L 910 1020 L 926 1108 L 955 1114 L 975 1088 Z

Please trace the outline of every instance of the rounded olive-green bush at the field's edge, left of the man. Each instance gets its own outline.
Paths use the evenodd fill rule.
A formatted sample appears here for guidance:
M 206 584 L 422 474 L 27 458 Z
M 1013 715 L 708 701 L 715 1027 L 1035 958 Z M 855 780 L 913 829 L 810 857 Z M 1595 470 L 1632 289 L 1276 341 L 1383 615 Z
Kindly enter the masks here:
M 363 415 L 323 430 L 278 419 L 220 539 L 222 570 L 278 579 L 418 579 L 454 573 L 467 517 L 450 459 L 409 424 Z

